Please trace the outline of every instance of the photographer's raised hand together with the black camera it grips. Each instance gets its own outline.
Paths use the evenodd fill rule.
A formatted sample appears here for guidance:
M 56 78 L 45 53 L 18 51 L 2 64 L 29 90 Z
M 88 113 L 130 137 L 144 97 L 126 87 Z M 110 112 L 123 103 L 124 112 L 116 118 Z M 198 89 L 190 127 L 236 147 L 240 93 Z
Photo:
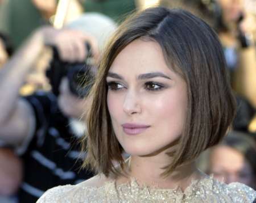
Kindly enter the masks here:
M 97 61 L 99 56 L 96 39 L 74 29 L 44 27 L 41 31 L 44 44 L 53 50 L 53 58 L 46 73 L 53 94 L 59 95 L 61 79 L 67 77 L 72 94 L 84 98 L 93 80 L 91 62 Z

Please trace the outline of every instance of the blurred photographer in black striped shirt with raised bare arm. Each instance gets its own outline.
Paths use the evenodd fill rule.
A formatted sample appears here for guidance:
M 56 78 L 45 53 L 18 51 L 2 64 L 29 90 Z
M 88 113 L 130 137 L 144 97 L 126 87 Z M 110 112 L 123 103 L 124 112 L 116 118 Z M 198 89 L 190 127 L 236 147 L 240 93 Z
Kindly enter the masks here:
M 113 23 L 106 25 L 105 17 L 100 15 L 88 14 L 88 18 L 89 22 L 94 22 L 94 31 L 98 27 L 98 33 L 109 32 L 105 30 L 108 26 L 114 27 Z M 102 23 L 98 23 L 98 19 Z M 92 176 L 88 170 L 80 170 L 82 155 L 77 142 L 86 128 L 79 119 L 86 116 L 90 105 L 86 98 L 88 90 L 76 92 L 72 89 L 74 81 L 67 73 L 59 77 L 58 96 L 52 92 L 36 92 L 20 98 L 18 94 L 24 78 L 46 45 L 57 48 L 59 64 L 84 61 L 90 54 L 86 42 L 97 60 L 98 39 L 90 32 L 92 27 L 85 27 L 87 34 L 75 29 L 38 29 L 0 71 L 0 139 L 16 146 L 22 154 L 24 179 L 18 194 L 20 202 L 35 202 L 48 188 L 76 184 Z M 50 76 L 56 75 L 51 74 L 56 68 L 56 58 L 51 64 L 54 67 L 49 70 Z M 90 69 L 86 74 L 92 74 Z M 50 81 L 53 78 L 56 77 L 50 77 Z M 53 90 L 56 89 L 53 86 Z

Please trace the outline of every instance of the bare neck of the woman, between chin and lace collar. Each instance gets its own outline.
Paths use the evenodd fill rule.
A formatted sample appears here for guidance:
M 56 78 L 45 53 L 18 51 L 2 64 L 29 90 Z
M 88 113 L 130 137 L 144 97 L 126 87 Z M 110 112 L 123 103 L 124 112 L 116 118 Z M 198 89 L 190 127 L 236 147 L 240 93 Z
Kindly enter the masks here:
M 162 176 L 163 167 L 170 163 L 170 157 L 138 157 L 131 156 L 129 160 L 130 176 L 135 177 L 139 184 L 146 184 L 158 188 L 177 188 L 183 191 L 187 188 L 191 181 L 200 179 L 203 174 L 197 170 L 195 162 L 189 162 L 179 166 L 167 177 Z M 123 178 L 121 181 L 125 181 Z

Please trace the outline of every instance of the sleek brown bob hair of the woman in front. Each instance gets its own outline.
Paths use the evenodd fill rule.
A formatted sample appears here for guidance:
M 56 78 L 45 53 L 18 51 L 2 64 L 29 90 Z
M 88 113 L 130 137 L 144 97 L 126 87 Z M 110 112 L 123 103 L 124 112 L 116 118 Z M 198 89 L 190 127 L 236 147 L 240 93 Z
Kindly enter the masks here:
M 115 32 L 102 58 L 90 92 L 92 108 L 88 117 L 88 136 L 82 142 L 87 152 L 84 166 L 106 176 L 121 175 L 125 168 L 123 149 L 112 128 L 106 97 L 106 77 L 115 57 L 135 39 L 156 41 L 167 65 L 187 83 L 187 120 L 172 162 L 162 175 L 193 160 L 216 145 L 227 132 L 236 109 L 222 47 L 216 33 L 203 20 L 180 9 L 154 7 L 126 19 Z M 171 130 L 171 129 L 170 129 Z M 113 160 L 120 164 L 117 169 Z

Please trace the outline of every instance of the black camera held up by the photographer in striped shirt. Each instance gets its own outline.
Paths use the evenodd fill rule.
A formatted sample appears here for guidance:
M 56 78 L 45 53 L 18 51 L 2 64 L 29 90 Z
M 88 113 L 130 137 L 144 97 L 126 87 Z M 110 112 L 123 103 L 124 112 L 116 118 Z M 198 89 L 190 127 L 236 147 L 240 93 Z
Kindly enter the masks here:
M 46 76 L 51 84 L 52 92 L 56 96 L 59 95 L 60 82 L 64 77 L 68 78 L 69 90 L 73 95 L 79 98 L 85 98 L 88 95 L 94 81 L 94 75 L 91 70 L 92 65 L 90 64 L 92 54 L 89 43 L 85 43 L 85 47 L 88 53 L 85 62 L 70 63 L 62 61 L 57 48 L 52 46 L 53 58 Z

